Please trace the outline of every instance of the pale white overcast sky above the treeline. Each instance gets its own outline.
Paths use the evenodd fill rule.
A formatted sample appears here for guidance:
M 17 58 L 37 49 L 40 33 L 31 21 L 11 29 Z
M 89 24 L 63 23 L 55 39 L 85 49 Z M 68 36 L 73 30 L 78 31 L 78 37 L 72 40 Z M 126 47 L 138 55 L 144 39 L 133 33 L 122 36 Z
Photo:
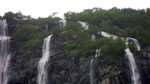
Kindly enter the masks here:
M 100 7 L 103 9 L 117 8 L 150 8 L 150 0 L 1 0 L 0 15 L 5 12 L 21 11 L 32 17 L 47 17 L 53 12 L 63 17 L 67 11 L 80 12 L 84 9 Z

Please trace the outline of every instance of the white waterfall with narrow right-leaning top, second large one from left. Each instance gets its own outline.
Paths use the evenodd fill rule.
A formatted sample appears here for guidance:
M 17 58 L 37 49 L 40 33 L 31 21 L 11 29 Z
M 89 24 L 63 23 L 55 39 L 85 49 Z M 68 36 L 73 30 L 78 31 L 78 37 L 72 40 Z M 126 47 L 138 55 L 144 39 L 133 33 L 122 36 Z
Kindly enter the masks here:
M 49 35 L 47 38 L 44 39 L 43 43 L 43 54 L 42 58 L 40 59 L 38 63 L 38 84 L 47 84 L 48 81 L 48 61 L 50 58 L 50 41 L 51 41 L 52 35 Z

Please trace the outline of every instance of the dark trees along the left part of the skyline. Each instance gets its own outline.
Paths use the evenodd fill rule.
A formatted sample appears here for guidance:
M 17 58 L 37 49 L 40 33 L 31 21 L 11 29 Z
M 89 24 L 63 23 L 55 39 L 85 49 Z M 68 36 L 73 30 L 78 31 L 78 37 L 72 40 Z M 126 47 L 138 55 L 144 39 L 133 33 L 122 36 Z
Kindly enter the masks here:
M 7 12 L 0 19 L 6 19 L 9 25 L 13 24 L 31 24 L 31 25 L 46 25 L 49 23 L 56 23 L 60 20 L 59 17 L 55 17 L 55 14 L 52 14 L 48 17 L 38 19 L 32 18 L 31 16 L 23 15 L 20 11 L 17 13 Z

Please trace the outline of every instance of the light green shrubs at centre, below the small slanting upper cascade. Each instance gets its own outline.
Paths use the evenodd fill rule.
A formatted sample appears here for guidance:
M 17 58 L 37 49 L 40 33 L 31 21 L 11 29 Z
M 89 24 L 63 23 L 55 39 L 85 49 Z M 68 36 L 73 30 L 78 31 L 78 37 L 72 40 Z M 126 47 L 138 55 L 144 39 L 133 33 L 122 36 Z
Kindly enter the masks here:
M 87 53 L 95 47 L 90 34 L 78 22 L 68 23 L 64 30 L 67 39 L 64 46 L 68 55 Z

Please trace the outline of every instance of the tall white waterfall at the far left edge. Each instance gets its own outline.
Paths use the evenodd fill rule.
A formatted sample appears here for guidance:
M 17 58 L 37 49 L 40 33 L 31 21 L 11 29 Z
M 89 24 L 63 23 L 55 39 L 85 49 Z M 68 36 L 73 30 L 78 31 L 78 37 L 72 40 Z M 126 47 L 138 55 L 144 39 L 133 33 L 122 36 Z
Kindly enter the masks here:
M 0 84 L 7 84 L 7 69 L 10 60 L 10 37 L 7 36 L 6 20 L 0 20 Z

